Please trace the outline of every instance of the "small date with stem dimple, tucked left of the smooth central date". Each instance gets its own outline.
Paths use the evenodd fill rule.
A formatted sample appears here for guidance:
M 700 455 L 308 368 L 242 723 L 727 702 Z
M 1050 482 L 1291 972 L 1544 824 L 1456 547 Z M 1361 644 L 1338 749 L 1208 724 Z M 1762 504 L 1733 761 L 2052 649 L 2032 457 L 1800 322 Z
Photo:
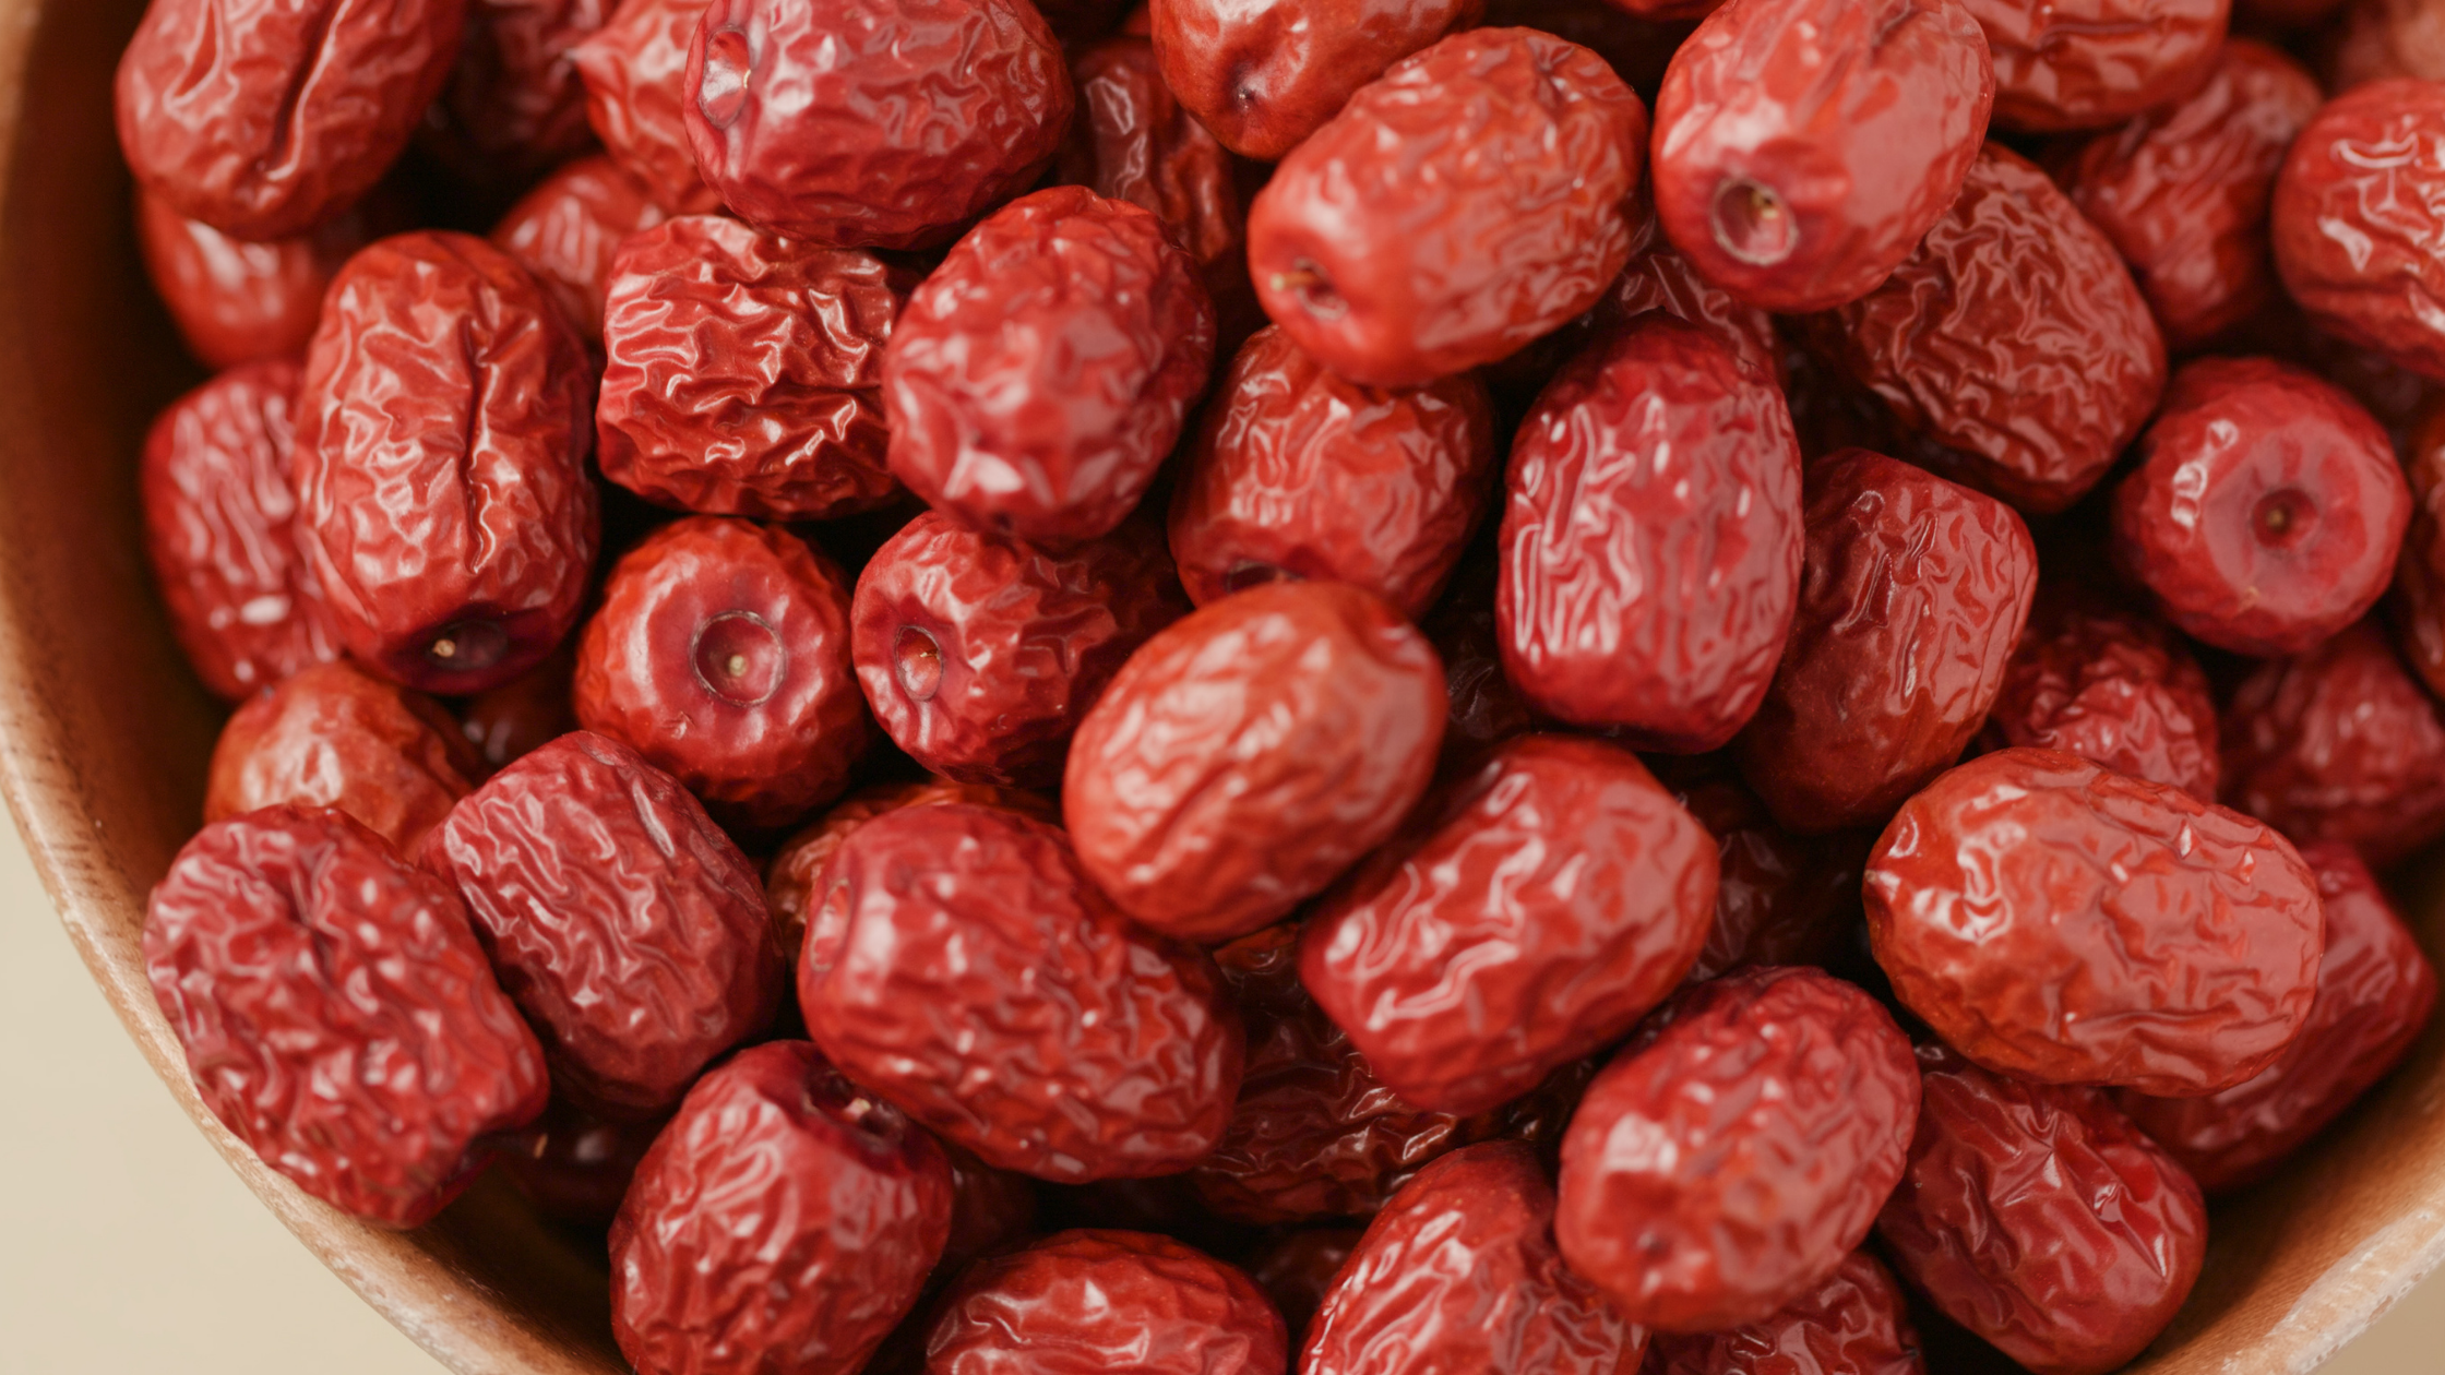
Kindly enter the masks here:
M 1112 673 L 1186 612 L 1152 521 L 1042 553 L 927 511 L 866 560 L 848 643 L 875 722 L 910 758 L 961 783 L 1044 788 Z

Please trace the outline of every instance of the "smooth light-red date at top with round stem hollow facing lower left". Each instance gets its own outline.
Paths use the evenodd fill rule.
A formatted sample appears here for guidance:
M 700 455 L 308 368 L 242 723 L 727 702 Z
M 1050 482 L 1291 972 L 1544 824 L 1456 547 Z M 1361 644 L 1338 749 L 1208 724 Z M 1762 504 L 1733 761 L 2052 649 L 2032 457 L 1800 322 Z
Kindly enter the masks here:
M 1958 0 L 1734 0 L 1655 98 L 1655 218 L 1751 306 L 1858 301 L 1961 193 L 1993 103 Z

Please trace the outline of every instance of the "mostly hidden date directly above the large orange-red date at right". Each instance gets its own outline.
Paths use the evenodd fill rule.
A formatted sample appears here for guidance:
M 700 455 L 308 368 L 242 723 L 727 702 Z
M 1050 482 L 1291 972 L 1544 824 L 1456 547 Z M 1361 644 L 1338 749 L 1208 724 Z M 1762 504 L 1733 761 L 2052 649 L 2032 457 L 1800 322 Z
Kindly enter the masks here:
M 2100 599 L 2037 599 L 1980 741 L 2078 754 L 2200 802 L 2215 800 L 2220 776 L 2198 661 L 2154 617 Z

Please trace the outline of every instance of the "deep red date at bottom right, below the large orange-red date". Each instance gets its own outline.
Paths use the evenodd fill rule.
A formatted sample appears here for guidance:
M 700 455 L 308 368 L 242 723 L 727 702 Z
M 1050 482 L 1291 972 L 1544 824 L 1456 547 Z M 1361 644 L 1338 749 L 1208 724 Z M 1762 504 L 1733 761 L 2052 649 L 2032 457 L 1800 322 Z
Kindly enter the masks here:
M 2198 1184 L 2095 1089 L 1919 1050 L 1910 1167 L 1875 1231 L 1936 1309 L 2034 1375 L 2103 1375 L 2198 1280 Z

